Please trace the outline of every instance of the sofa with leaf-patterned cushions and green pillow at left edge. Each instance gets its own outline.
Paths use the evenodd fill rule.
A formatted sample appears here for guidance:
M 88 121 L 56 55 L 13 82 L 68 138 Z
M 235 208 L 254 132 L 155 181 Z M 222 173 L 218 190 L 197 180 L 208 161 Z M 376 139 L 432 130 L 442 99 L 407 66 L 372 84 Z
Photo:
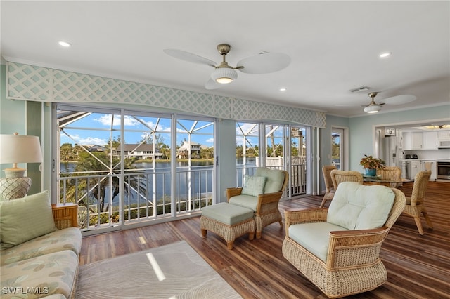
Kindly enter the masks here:
M 0 202 L 1 298 L 74 298 L 82 234 L 58 229 L 49 192 Z

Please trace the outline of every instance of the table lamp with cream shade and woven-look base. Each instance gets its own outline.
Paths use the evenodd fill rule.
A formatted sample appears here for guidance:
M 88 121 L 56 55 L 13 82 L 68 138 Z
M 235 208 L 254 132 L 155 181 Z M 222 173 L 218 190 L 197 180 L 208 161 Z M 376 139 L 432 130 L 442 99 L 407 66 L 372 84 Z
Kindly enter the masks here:
M 42 152 L 39 137 L 29 135 L 0 135 L 0 164 L 12 163 L 4 169 L 6 178 L 0 178 L 0 195 L 6 200 L 25 197 L 32 180 L 24 177 L 26 169 L 18 163 L 41 163 Z

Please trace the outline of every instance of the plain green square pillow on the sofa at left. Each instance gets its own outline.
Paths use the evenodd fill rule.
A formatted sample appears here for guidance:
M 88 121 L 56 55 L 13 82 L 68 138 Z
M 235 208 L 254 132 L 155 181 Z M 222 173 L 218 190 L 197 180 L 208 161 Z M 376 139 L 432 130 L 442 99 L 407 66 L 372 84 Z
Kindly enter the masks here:
M 0 202 L 0 239 L 4 247 L 58 230 L 53 220 L 49 192 Z

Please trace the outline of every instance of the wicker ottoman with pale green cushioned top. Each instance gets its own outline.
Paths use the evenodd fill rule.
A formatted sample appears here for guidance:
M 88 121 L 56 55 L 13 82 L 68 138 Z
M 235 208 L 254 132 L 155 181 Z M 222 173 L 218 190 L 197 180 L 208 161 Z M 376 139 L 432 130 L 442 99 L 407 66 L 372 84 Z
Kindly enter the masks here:
M 208 230 L 219 234 L 225 239 L 226 246 L 233 249 L 233 243 L 237 237 L 246 233 L 250 240 L 255 237 L 256 224 L 250 208 L 222 202 L 202 208 L 200 230 L 204 238 Z

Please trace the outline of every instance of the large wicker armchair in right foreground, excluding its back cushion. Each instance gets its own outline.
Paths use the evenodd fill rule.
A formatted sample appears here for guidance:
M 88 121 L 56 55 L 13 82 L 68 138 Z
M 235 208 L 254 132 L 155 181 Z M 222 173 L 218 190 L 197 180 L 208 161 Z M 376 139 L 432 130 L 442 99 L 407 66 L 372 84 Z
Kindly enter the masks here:
M 349 184 L 356 185 L 345 183 L 345 185 Z M 359 188 L 385 188 L 385 192 L 392 190 L 394 193 L 394 204 L 390 211 L 385 211 L 385 214 L 388 213 L 388 215 L 385 215 L 387 220 L 383 226 L 364 230 L 345 230 L 344 228 L 336 231 L 322 230 L 321 233 L 317 233 L 312 228 L 314 225 L 321 225 L 316 222 L 326 222 L 324 225 L 329 225 L 328 211 L 338 203 L 340 200 L 338 192 L 345 187 L 336 190 L 335 198 L 331 201 L 328 209 L 310 208 L 285 211 L 286 234 L 282 248 L 283 256 L 330 298 L 371 291 L 387 281 L 387 271 L 379 256 L 380 248 L 390 227 L 394 225 L 403 211 L 406 199 L 403 192 L 394 188 L 365 185 L 361 185 Z M 372 190 L 375 189 L 366 191 L 367 197 L 370 199 L 367 202 L 378 199 L 378 197 L 370 197 Z M 312 243 L 318 248 L 323 248 L 320 250 L 325 251 L 323 252 L 325 258 L 323 256 L 319 258 L 320 255 L 311 253 L 314 250 L 300 245 L 298 239 L 294 240 L 298 238 L 298 230 L 302 226 L 304 226 L 304 232 L 309 234 Z M 293 227 L 292 230 L 290 227 Z M 291 238 L 291 232 L 294 239 Z M 297 236 L 295 236 L 295 232 L 297 232 Z M 323 243 L 320 245 L 316 243 L 318 239 L 321 239 Z

